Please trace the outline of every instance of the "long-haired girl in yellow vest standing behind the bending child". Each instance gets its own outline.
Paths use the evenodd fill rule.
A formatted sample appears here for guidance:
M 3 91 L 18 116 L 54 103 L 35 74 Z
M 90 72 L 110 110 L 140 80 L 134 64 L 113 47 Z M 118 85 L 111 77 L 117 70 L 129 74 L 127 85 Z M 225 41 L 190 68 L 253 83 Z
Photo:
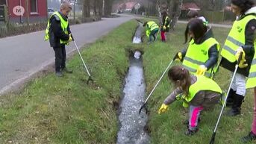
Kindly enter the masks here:
M 185 43 L 190 37 L 188 48 L 178 52 L 174 59 L 193 74 L 212 78 L 217 71 L 219 43 L 201 19 L 191 19 L 185 31 Z

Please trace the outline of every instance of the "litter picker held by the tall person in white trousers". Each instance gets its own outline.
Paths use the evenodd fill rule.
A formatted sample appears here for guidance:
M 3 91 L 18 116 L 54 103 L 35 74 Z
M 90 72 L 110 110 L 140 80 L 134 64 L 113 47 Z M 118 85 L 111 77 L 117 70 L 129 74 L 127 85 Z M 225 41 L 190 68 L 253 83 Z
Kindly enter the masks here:
M 237 60 L 237 64 L 236 64 L 236 66 L 234 67 L 234 74 L 233 74 L 232 79 L 231 79 L 231 82 L 230 82 L 230 84 L 229 84 L 228 93 L 227 93 L 227 96 L 225 97 L 224 104 L 222 105 L 222 110 L 220 110 L 219 118 L 218 118 L 218 120 L 217 120 L 217 122 L 216 122 L 214 131 L 213 131 L 213 134 L 212 134 L 212 136 L 211 136 L 211 138 L 210 138 L 210 144 L 213 144 L 213 143 L 214 143 L 215 135 L 216 135 L 216 130 L 217 130 L 217 127 L 218 127 L 218 125 L 219 125 L 219 120 L 220 120 L 220 118 L 221 118 L 221 116 L 222 116 L 222 113 L 223 113 L 225 104 L 227 103 L 228 94 L 229 94 L 229 92 L 230 92 L 230 90 L 231 90 L 231 85 L 232 85 L 232 82 L 234 81 L 234 76 L 235 76 L 236 73 L 237 73 L 238 65 L 239 65 L 239 63 L 240 63 L 240 60 L 241 60 L 241 58 L 242 58 L 242 55 L 243 55 L 243 53 L 241 52 L 240 55 L 239 55 L 239 58 L 238 58 L 238 60 Z

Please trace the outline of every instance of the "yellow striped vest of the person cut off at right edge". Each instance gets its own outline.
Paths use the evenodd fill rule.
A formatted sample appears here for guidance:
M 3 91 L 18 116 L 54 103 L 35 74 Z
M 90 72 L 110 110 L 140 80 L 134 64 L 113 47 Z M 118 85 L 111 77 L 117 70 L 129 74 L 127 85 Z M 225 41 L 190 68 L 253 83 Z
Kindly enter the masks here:
M 252 60 L 248 80 L 246 81 L 246 89 L 256 87 L 256 51 Z

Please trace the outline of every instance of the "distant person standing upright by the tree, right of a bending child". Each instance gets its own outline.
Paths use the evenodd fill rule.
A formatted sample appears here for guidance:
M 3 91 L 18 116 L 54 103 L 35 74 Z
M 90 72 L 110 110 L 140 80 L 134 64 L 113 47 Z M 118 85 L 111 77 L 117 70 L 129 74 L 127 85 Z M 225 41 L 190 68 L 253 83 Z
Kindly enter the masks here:
M 161 27 L 161 40 L 162 42 L 166 42 L 166 35 L 165 33 L 169 31 L 169 16 L 167 15 L 166 11 L 162 13 L 162 27 Z

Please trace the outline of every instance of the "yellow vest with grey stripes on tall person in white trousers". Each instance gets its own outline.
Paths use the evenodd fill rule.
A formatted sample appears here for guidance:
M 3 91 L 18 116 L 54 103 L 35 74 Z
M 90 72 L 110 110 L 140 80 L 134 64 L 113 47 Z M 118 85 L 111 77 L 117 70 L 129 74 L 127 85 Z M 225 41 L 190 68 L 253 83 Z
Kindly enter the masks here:
M 249 15 L 243 19 L 234 21 L 231 31 L 225 41 L 225 45 L 220 53 L 222 57 L 225 57 L 225 59 L 229 60 L 231 63 L 236 61 L 235 54 L 237 48 L 246 43 L 246 25 L 252 19 L 256 19 L 256 16 Z

